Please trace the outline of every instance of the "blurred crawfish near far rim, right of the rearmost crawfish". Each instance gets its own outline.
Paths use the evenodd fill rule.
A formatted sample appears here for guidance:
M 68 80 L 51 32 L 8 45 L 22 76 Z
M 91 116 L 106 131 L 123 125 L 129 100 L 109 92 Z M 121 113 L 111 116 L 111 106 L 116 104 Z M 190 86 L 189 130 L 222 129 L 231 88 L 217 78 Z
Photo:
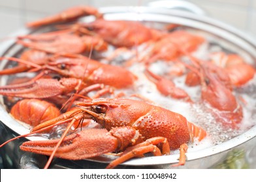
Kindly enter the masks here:
M 184 55 L 183 51 L 193 53 L 205 42 L 202 36 L 194 35 L 187 31 L 163 32 L 158 40 L 150 40 L 146 43 L 144 52 L 140 57 L 129 60 L 126 64 L 130 66 L 134 62 L 143 62 L 148 66 L 157 60 L 173 61 Z

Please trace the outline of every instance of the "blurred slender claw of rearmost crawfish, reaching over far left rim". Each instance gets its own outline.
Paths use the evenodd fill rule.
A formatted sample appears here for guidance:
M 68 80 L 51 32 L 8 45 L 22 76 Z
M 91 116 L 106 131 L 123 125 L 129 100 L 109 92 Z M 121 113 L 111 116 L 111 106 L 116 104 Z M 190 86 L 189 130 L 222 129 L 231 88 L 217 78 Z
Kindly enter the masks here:
M 96 18 L 101 18 L 102 14 L 99 11 L 91 6 L 74 6 L 72 8 L 68 8 L 67 10 L 63 10 L 59 14 L 55 14 L 53 16 L 48 16 L 46 18 L 39 19 L 37 21 L 32 21 L 27 23 L 27 27 L 40 27 L 43 25 L 50 25 L 52 23 L 62 23 L 67 21 L 73 21 L 82 16 L 93 15 Z

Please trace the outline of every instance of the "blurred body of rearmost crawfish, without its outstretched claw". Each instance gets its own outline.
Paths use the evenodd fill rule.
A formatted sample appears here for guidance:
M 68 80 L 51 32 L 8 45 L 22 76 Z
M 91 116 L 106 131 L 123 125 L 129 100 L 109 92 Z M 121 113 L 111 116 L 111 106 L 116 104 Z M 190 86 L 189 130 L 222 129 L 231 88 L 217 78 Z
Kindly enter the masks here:
M 96 19 L 91 23 L 79 23 L 76 29 L 100 36 L 116 47 L 133 47 L 149 40 L 158 40 L 165 34 L 157 29 L 151 29 L 138 21 L 109 21 Z M 85 29 L 89 31 L 85 31 Z

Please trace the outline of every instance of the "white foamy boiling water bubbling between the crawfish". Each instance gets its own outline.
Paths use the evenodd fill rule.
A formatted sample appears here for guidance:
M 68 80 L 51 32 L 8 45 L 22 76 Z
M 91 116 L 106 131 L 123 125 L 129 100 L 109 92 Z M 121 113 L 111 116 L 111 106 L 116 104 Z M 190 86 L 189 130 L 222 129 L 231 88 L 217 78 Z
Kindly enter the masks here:
M 193 53 L 193 55 L 195 57 L 199 57 L 200 59 L 206 60 L 208 59 L 209 51 L 221 51 L 221 47 L 216 44 L 211 47 L 206 43 L 201 45 L 198 51 Z M 131 56 L 124 53 L 124 58 L 127 57 L 131 58 Z M 114 59 L 112 64 L 122 66 L 123 62 L 120 61 L 119 58 L 116 60 Z M 157 75 L 168 77 L 168 72 L 170 72 L 171 66 L 172 62 L 160 60 L 154 62 L 150 66 L 150 70 Z M 152 101 L 150 103 L 153 105 L 157 105 L 165 109 L 172 110 L 173 112 L 182 114 L 185 116 L 185 118 L 187 118 L 189 122 L 195 123 L 196 125 L 199 125 L 205 129 L 208 133 L 208 136 L 200 142 L 195 139 L 193 143 L 189 144 L 189 151 L 207 148 L 209 146 L 230 140 L 234 136 L 238 136 L 244 133 L 256 123 L 256 77 L 254 77 L 251 81 L 249 81 L 249 83 L 242 86 L 241 88 L 234 90 L 234 94 L 236 95 L 236 98 L 238 98 L 237 101 L 243 108 L 244 118 L 241 122 L 240 129 L 232 129 L 223 127 L 222 123 L 216 121 L 212 113 L 218 111 L 214 109 L 211 109 L 210 111 L 210 106 L 207 103 L 202 103 L 200 100 L 200 86 L 191 87 L 184 84 L 185 75 L 180 77 L 171 77 L 170 79 L 174 81 L 177 87 L 184 89 L 185 92 L 189 94 L 191 99 L 195 102 L 193 104 L 179 99 L 163 96 L 161 93 L 159 93 L 156 86 L 148 80 L 146 75 L 144 75 L 144 69 L 144 66 L 140 63 L 133 64 L 129 70 L 138 77 L 138 80 L 135 83 L 135 88 L 131 90 L 116 90 L 116 93 L 118 94 L 119 92 L 125 92 L 127 98 L 131 98 L 129 96 L 132 94 L 139 94 L 140 96 L 143 96 L 144 98 Z M 138 98 L 133 97 L 132 99 Z M 175 151 L 174 153 L 178 153 L 178 151 Z

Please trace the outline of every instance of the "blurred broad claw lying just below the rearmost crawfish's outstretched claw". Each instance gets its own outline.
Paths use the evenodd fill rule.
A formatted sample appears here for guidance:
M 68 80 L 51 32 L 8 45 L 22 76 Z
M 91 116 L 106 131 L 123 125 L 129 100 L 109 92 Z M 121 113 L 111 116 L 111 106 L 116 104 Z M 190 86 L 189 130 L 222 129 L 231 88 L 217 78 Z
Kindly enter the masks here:
M 47 53 L 85 53 L 108 48 L 108 44 L 97 36 L 78 36 L 70 30 L 18 36 L 17 43 Z

